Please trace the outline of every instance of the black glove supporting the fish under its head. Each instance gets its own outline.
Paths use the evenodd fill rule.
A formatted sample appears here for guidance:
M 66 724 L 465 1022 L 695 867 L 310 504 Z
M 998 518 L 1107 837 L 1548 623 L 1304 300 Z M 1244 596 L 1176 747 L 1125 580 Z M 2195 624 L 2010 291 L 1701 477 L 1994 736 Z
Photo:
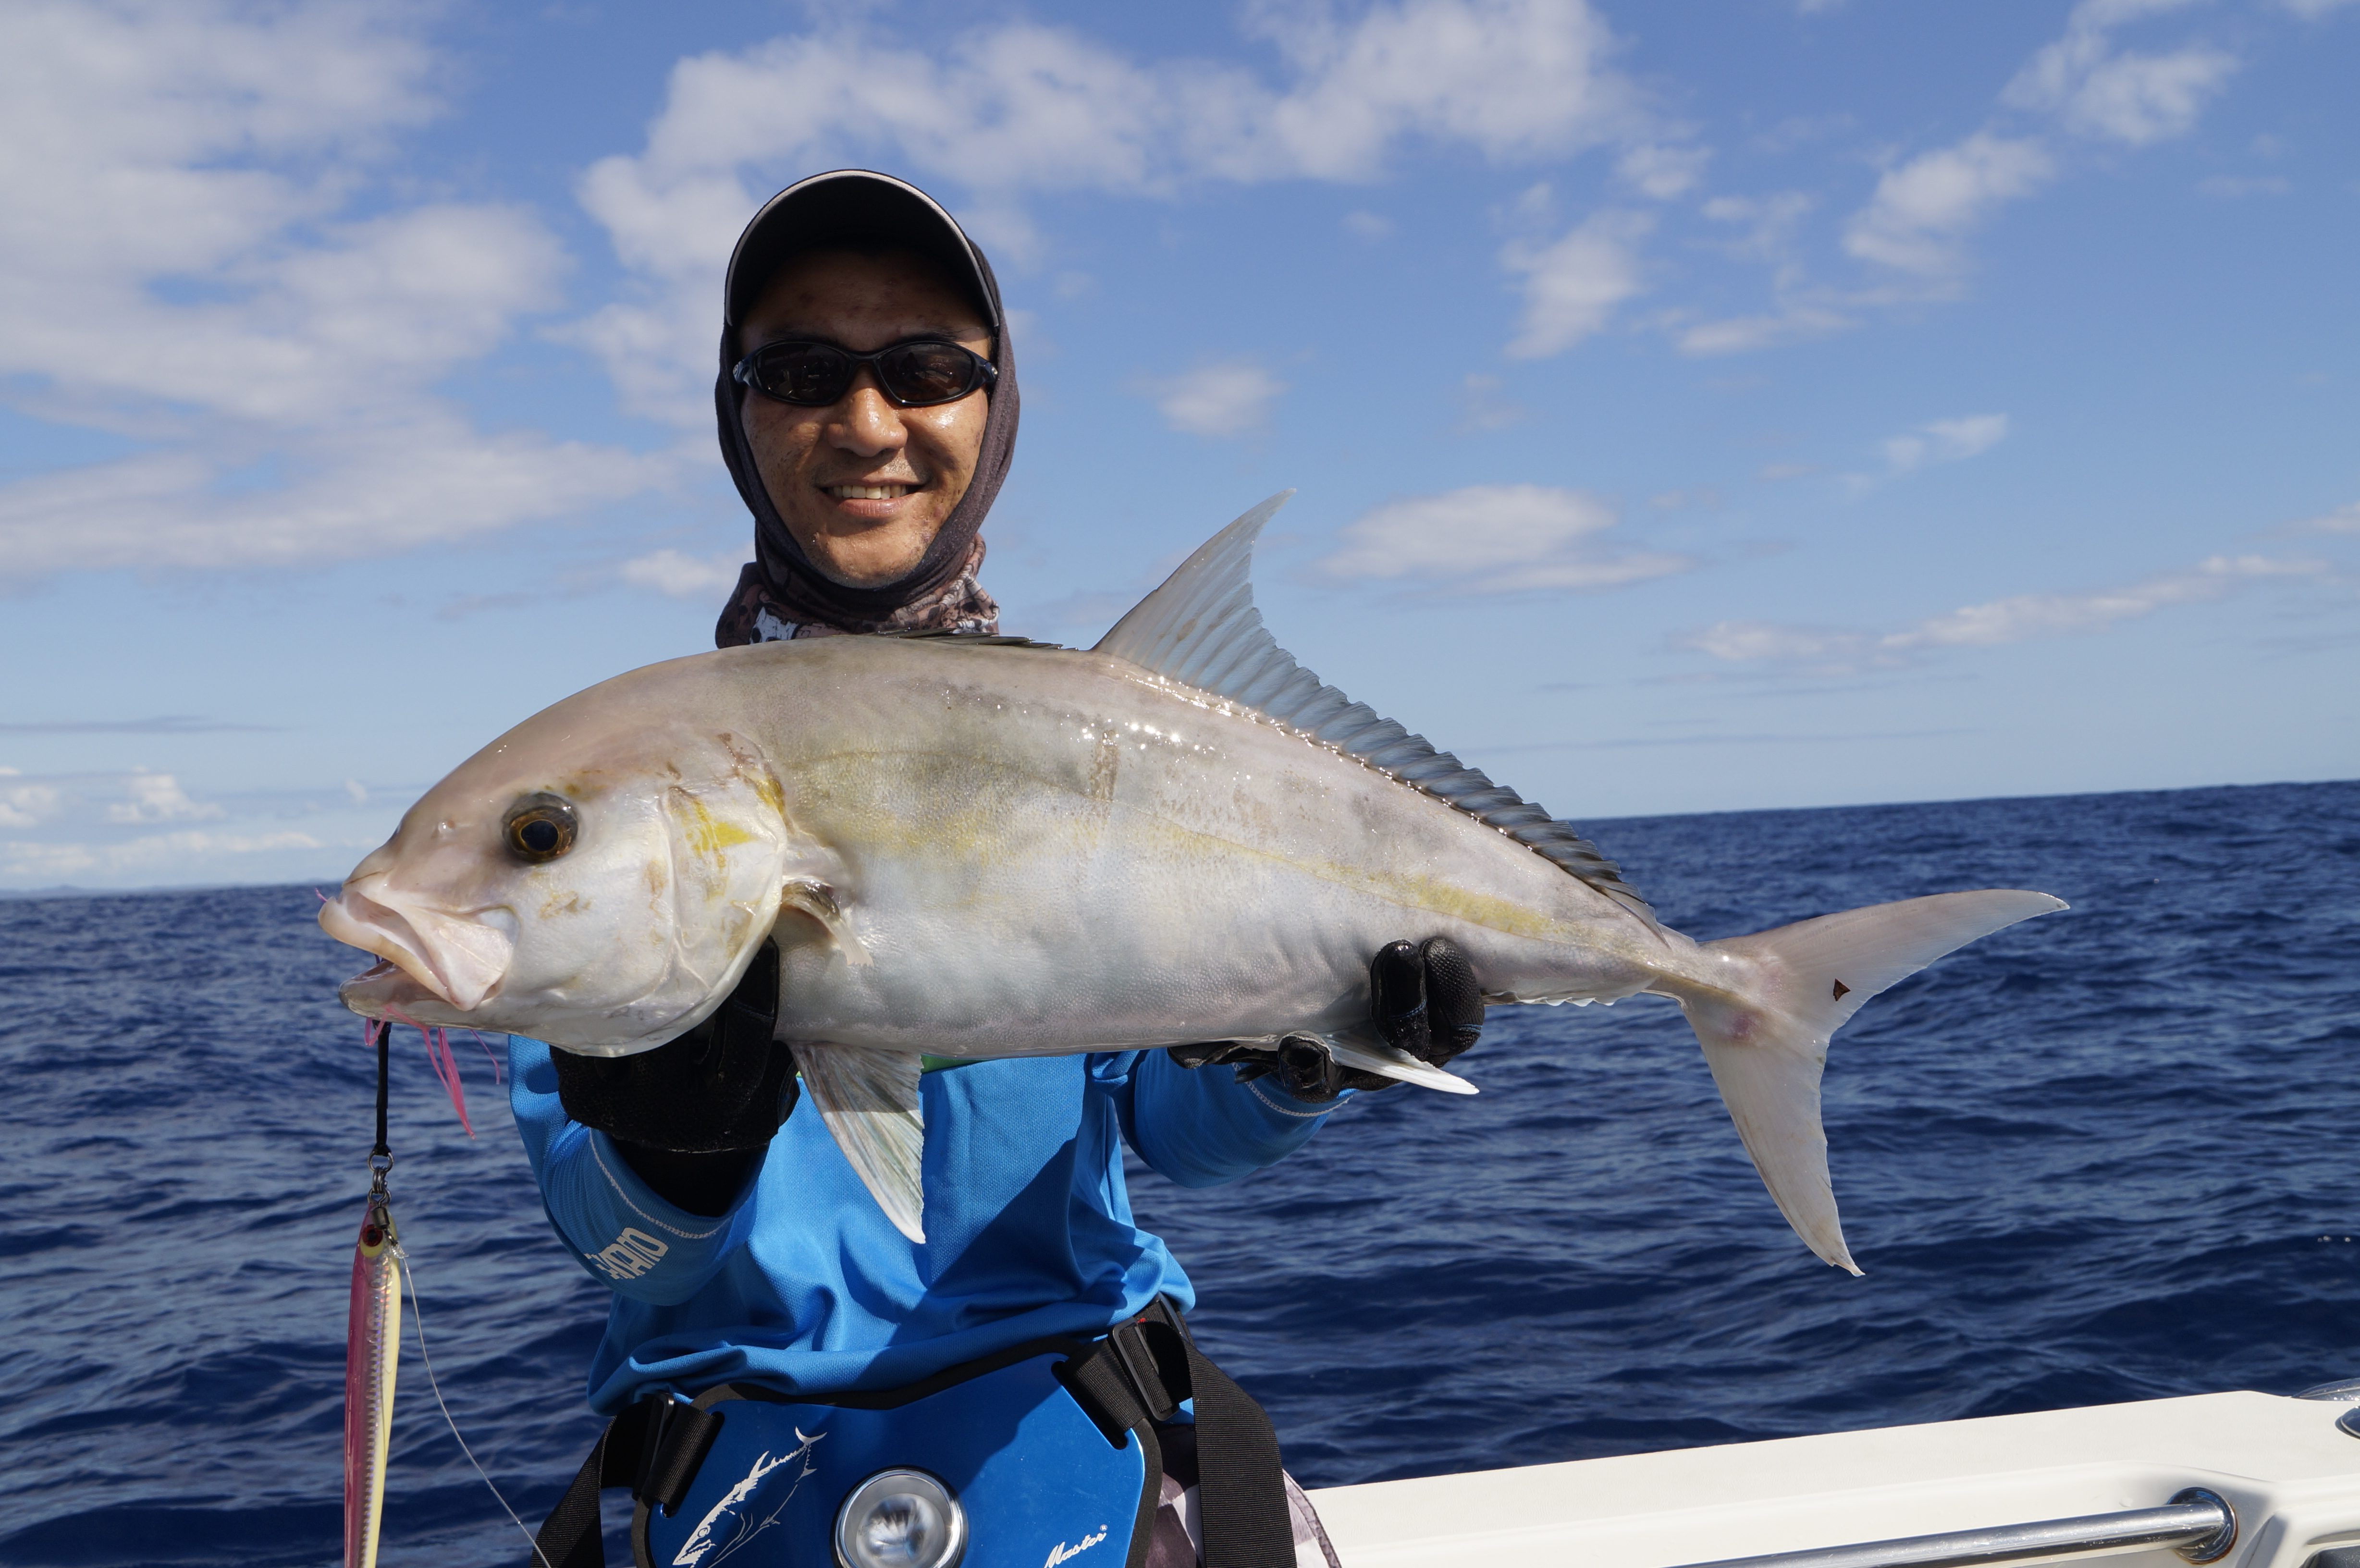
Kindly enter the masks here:
M 776 1023 L 779 949 L 765 942 L 729 999 L 680 1039 L 637 1056 L 552 1048 L 557 1098 L 661 1197 L 722 1214 L 795 1110 L 795 1056 L 772 1039 Z

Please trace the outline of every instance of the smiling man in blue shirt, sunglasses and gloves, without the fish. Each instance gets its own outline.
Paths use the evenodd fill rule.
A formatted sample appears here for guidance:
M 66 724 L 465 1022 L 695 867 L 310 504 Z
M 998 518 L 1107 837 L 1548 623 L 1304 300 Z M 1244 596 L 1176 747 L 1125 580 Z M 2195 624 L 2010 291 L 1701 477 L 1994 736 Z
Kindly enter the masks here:
M 715 401 L 758 555 L 722 647 L 998 631 L 979 529 L 1015 451 L 1017 375 L 991 267 L 942 208 L 861 172 L 772 201 L 732 257 Z M 1447 940 L 1381 949 L 1374 994 L 1381 1032 L 1435 1065 L 1482 1023 Z M 602 1412 L 743 1377 L 894 1389 L 1043 1337 L 1097 1339 L 1159 1301 L 1187 1308 L 1187 1275 L 1133 1223 L 1121 1145 L 1182 1185 L 1234 1181 L 1298 1148 L 1350 1089 L 1390 1084 L 1312 1037 L 927 1060 L 925 1240 L 911 1240 L 814 1108 L 793 1115 L 774 1011 L 776 971 L 755 963 L 732 1004 L 656 1051 L 512 1041 L 550 1219 L 616 1292 L 590 1377 Z M 1161 1448 L 1194 1483 L 1171 1431 Z M 1173 1556 L 1180 1511 L 1163 1514 Z

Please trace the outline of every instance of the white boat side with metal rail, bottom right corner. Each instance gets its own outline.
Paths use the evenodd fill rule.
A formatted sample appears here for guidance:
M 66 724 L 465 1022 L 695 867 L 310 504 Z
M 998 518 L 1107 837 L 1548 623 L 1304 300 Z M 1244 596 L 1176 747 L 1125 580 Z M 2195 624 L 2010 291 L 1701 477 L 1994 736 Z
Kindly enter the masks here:
M 1404 1476 L 1312 1502 L 1350 1568 L 1999 1568 L 2110 1554 L 2119 1568 L 2360 1568 L 2355 1438 L 2360 1379 L 2313 1398 L 2190 1393 Z

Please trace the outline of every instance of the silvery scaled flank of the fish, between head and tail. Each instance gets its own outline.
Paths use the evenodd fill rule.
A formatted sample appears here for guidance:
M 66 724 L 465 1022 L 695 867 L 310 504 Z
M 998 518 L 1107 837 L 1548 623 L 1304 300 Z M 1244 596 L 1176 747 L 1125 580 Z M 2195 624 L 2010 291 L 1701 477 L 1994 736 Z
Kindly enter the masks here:
M 812 869 L 876 963 L 814 923 L 781 940 L 795 1039 L 1050 1056 L 1343 1030 L 1402 930 L 1461 942 L 1501 1001 L 1626 997 L 1692 949 L 1433 796 L 1102 654 L 828 638 L 647 675 L 616 697 L 750 737 L 838 862 Z

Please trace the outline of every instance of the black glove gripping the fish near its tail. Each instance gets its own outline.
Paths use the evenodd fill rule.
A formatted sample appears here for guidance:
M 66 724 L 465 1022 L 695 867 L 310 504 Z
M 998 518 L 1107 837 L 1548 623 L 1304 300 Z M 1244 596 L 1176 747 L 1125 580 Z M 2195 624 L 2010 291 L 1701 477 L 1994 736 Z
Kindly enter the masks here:
M 1475 966 L 1449 937 L 1423 945 L 1388 942 L 1369 961 L 1369 1020 L 1378 1039 L 1409 1051 L 1430 1067 L 1442 1067 L 1475 1044 L 1482 1032 L 1482 987 Z M 1173 1046 L 1182 1067 L 1234 1063 L 1237 1079 L 1274 1077 L 1298 1100 L 1319 1105 L 1345 1089 L 1392 1089 L 1399 1079 L 1345 1067 L 1310 1034 L 1289 1034 L 1274 1046 L 1232 1039 L 1201 1046 Z

